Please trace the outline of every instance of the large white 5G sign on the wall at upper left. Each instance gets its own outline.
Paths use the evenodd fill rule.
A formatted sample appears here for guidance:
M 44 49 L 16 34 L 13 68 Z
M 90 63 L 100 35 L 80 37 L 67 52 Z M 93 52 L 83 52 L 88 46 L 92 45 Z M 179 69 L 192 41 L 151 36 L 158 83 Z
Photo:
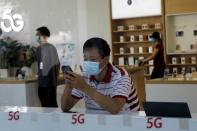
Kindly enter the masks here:
M 6 22 L 9 24 L 6 25 Z M 25 22 L 20 14 L 12 14 L 12 9 L 7 9 L 2 13 L 0 24 L 4 32 L 19 32 L 24 28 Z

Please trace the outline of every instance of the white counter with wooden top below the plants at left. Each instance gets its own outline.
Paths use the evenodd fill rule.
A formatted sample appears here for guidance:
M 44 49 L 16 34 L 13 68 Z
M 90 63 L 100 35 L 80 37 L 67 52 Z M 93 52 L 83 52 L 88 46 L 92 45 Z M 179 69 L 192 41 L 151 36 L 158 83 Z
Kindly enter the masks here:
M 0 106 L 40 106 L 36 78 L 0 79 Z

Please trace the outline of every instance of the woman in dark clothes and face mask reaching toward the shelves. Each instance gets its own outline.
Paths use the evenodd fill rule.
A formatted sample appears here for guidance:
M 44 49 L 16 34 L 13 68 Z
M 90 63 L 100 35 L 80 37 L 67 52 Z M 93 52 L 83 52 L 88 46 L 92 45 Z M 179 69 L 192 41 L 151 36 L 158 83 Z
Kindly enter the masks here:
M 166 67 L 165 59 L 164 59 L 164 47 L 162 39 L 160 38 L 159 32 L 153 32 L 150 36 L 151 41 L 155 44 L 153 53 L 146 59 L 142 60 L 142 62 L 148 62 L 149 60 L 153 60 L 153 72 L 151 74 L 150 79 L 161 78 L 164 74 L 164 69 Z

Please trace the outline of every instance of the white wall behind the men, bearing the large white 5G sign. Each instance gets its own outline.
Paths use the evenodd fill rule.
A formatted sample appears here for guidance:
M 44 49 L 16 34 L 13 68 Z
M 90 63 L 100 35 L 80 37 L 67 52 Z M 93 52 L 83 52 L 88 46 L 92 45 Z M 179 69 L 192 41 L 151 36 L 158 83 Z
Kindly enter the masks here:
M 25 28 L 4 36 L 32 44 L 35 29 L 46 25 L 53 36 L 65 32 L 76 43 L 76 62 L 83 60 L 82 46 L 88 38 L 102 37 L 110 43 L 109 0 L 1 0 L 0 17 L 5 8 L 22 14 Z

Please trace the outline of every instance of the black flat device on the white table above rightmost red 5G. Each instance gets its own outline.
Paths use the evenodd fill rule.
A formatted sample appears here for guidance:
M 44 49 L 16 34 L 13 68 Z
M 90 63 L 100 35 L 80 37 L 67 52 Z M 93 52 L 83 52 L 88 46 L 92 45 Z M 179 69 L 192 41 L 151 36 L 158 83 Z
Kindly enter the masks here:
M 184 102 L 143 102 L 146 116 L 191 118 L 187 103 Z

